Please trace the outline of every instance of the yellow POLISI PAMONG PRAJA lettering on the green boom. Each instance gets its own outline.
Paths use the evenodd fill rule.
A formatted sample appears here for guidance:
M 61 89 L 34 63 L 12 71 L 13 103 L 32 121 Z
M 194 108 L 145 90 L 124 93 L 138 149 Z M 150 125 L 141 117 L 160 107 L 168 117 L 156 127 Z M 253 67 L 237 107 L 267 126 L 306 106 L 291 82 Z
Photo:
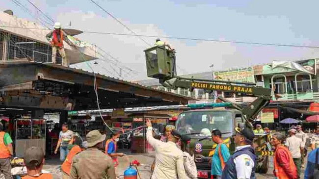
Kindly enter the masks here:
M 238 93 L 253 93 L 252 87 L 247 86 L 233 86 L 226 84 L 211 84 L 211 83 L 201 83 L 201 82 L 191 82 L 191 87 L 208 89 L 208 90 L 218 90 L 218 91 L 229 91 L 229 92 L 238 92 Z

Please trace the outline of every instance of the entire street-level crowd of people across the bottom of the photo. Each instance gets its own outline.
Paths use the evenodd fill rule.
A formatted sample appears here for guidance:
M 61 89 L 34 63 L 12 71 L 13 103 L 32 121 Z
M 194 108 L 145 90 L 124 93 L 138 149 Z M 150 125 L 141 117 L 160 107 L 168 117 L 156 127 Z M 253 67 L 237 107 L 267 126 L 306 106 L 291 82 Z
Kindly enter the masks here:
M 181 135 L 174 126 L 167 125 L 165 137 L 156 134 L 152 123 L 146 122 L 146 139 L 155 149 L 155 160 L 152 166 L 151 179 L 197 179 L 197 168 L 194 153 L 190 149 L 191 138 Z M 211 131 L 216 144 L 211 157 L 211 179 L 255 179 L 257 156 L 253 147 L 255 134 L 268 133 L 260 125 L 256 130 L 235 128 L 234 141 L 236 150 L 230 153 L 222 140 L 218 129 Z M 106 140 L 99 130 L 92 130 L 86 135 L 82 145 L 74 145 L 74 133 L 67 125 L 59 133 L 57 150 L 60 150 L 62 179 L 116 179 L 118 159 L 124 153 L 116 153 L 119 133 L 112 133 Z M 270 144 L 274 149 L 274 175 L 277 179 L 300 179 L 301 168 L 305 167 L 304 157 L 307 137 L 301 126 L 289 130 L 289 136 L 283 133 L 272 133 Z M 103 143 L 106 141 L 104 148 Z M 319 127 L 311 136 L 312 152 L 308 154 L 305 179 L 319 177 Z M 0 167 L 5 179 L 12 179 L 10 158 L 13 155 L 12 140 L 0 125 Z M 24 161 L 27 175 L 22 179 L 53 179 L 51 174 L 43 174 L 45 153 L 41 148 L 31 147 L 25 151 Z M 97 161 L 99 162 L 97 165 Z M 317 178 L 316 178 L 317 176 Z

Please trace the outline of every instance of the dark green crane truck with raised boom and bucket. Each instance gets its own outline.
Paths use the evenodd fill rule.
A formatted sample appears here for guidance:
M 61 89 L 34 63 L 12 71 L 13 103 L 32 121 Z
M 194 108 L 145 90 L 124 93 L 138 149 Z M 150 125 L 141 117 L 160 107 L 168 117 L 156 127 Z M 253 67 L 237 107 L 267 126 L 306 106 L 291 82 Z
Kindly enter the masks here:
M 218 128 L 222 132 L 224 143 L 235 152 L 235 142 L 232 137 L 235 127 L 253 128 L 252 123 L 262 109 L 269 104 L 271 89 L 258 87 L 254 83 L 207 80 L 196 78 L 178 77 L 176 74 L 176 51 L 170 46 L 154 46 L 146 49 L 146 67 L 148 77 L 159 79 L 164 87 L 176 90 L 185 88 L 204 89 L 206 92 L 222 91 L 235 93 L 240 96 L 255 97 L 248 105 L 240 106 L 230 102 L 221 96 L 217 98 L 221 103 L 208 103 L 200 105 L 201 109 L 184 111 L 179 114 L 175 128 L 191 137 L 190 148 L 194 152 L 198 178 L 205 179 L 211 176 L 210 161 L 217 144 L 211 139 L 211 131 Z M 196 104 L 188 104 L 190 108 L 196 108 Z M 202 109 L 202 108 L 205 109 Z M 222 108 L 221 108 L 222 107 Z M 271 134 L 255 134 L 253 141 L 256 155 L 258 156 L 256 172 L 267 173 L 268 156 L 273 155 L 269 145 Z

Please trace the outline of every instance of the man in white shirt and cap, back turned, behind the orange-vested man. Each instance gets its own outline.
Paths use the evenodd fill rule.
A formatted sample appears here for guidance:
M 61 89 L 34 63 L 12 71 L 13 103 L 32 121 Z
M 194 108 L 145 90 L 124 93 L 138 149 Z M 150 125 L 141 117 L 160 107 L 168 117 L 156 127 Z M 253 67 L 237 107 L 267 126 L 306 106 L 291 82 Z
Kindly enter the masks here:
M 298 179 L 300 179 L 300 172 L 301 172 L 301 153 L 303 153 L 303 149 L 305 145 L 303 144 L 302 140 L 296 137 L 296 129 L 292 128 L 289 130 L 289 135 L 286 139 L 285 146 L 289 149 L 292 153 L 293 162 L 297 167 L 297 174 Z

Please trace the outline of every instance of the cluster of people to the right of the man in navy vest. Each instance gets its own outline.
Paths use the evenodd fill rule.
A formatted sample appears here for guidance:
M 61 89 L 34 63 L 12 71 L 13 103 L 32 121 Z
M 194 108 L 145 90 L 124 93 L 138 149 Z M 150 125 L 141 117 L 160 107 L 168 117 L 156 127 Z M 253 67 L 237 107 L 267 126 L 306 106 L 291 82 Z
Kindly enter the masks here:
M 256 125 L 254 132 L 268 133 L 260 124 Z M 312 152 L 308 154 L 305 179 L 315 179 L 315 170 L 319 170 L 318 160 L 316 162 L 316 156 L 319 157 L 319 126 L 311 135 L 303 132 L 301 125 L 292 126 L 287 137 L 280 132 L 272 134 L 271 144 L 275 151 L 274 175 L 278 179 L 300 179 L 301 168 L 305 168 L 307 140 L 310 141 Z

